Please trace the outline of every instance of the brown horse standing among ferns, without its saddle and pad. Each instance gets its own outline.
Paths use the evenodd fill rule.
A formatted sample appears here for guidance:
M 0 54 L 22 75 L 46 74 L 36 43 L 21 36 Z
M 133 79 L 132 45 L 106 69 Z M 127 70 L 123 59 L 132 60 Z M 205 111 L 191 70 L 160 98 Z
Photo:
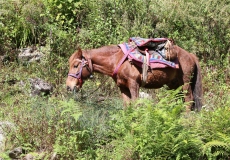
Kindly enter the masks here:
M 144 88 L 157 89 L 167 85 L 169 89 L 176 89 L 183 85 L 184 101 L 189 104 L 187 111 L 199 111 L 202 107 L 202 77 L 197 57 L 174 44 L 169 46 L 168 51 L 172 55 L 176 54 L 179 69 L 166 67 L 149 70 Z M 124 53 L 117 45 L 85 51 L 79 48 L 69 58 L 67 90 L 77 91 L 83 81 L 95 71 L 114 79 L 125 102 L 135 100 L 142 85 L 142 68 L 126 58 L 114 75 L 114 70 L 123 57 Z

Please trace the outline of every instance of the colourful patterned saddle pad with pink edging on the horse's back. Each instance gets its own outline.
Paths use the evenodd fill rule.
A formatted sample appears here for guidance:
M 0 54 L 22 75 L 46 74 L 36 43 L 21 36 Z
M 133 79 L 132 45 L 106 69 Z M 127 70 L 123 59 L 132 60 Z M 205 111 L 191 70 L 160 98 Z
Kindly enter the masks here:
M 149 40 L 145 39 L 145 43 L 139 43 L 139 44 L 146 44 L 148 42 Z M 130 60 L 136 61 L 138 66 L 141 66 L 141 64 L 143 64 L 145 55 L 141 54 L 136 49 L 137 48 L 136 45 L 133 45 L 132 43 L 123 43 L 123 44 L 119 44 L 119 46 L 124 54 L 130 52 L 128 55 L 128 58 Z M 175 62 L 167 61 L 158 52 L 154 52 L 153 54 L 150 55 L 149 65 L 151 68 L 166 68 L 166 67 L 179 68 L 177 60 Z

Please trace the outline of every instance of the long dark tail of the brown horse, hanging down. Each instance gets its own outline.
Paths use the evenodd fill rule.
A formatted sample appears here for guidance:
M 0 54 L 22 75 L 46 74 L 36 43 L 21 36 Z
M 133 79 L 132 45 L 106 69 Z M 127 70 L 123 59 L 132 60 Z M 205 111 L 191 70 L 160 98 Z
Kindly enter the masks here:
M 203 87 L 202 87 L 202 76 L 201 76 L 201 67 L 198 61 L 198 58 L 193 55 L 193 59 L 196 63 L 196 69 L 192 78 L 192 92 L 194 96 L 194 110 L 200 111 L 202 108 L 202 99 L 203 99 Z

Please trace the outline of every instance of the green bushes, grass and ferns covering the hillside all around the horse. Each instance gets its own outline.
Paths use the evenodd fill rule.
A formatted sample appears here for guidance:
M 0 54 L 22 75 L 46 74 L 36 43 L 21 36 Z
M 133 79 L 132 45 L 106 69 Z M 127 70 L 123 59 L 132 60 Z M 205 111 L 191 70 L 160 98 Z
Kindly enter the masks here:
M 229 159 L 230 3 L 221 0 L 0 0 L 0 157 L 23 147 L 37 159 Z M 77 95 L 66 93 L 68 58 L 131 36 L 170 37 L 195 53 L 204 100 L 184 114 L 178 90 L 144 90 L 123 110 L 111 78 L 95 75 Z M 45 48 L 40 63 L 17 61 L 18 49 Z M 41 47 L 42 46 L 42 47 Z M 31 97 L 28 78 L 51 83 Z M 20 82 L 25 83 L 21 85 Z M 101 101 L 101 98 L 104 100 Z M 39 157 L 40 156 L 40 157 Z

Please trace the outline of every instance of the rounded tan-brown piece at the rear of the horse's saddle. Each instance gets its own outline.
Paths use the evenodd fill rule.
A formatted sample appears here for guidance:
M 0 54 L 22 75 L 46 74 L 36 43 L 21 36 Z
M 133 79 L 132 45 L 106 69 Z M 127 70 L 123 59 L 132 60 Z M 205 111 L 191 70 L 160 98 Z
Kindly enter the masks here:
M 175 43 L 172 39 L 168 39 L 165 44 L 165 56 L 167 60 L 174 60 L 178 56 L 175 48 Z

